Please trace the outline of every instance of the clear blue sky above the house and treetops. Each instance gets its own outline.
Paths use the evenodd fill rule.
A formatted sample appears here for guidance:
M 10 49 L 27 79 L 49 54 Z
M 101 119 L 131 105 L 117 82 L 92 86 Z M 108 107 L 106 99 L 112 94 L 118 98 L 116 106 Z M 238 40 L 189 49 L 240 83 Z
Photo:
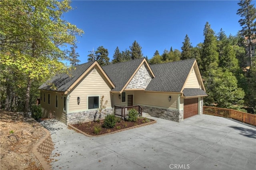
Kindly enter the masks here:
M 74 10 L 64 14 L 64 20 L 84 30 L 78 37 L 78 58 L 88 62 L 88 51 L 103 46 L 110 61 L 118 46 L 129 49 L 136 40 L 144 56 L 150 59 L 156 50 L 181 51 L 186 34 L 192 46 L 204 41 L 206 22 L 218 33 L 236 35 L 241 29 L 236 15 L 239 1 L 72 1 Z

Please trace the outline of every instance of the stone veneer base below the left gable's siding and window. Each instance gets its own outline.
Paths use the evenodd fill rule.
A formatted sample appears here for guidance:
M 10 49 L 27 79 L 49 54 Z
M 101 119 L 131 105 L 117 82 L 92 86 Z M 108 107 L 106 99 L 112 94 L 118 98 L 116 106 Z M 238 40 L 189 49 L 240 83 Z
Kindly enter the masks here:
M 67 124 L 73 125 L 73 124 L 93 121 L 96 111 L 97 110 L 68 113 Z M 101 119 L 106 117 L 107 114 L 113 114 L 113 109 L 106 109 L 106 113 L 102 114 Z

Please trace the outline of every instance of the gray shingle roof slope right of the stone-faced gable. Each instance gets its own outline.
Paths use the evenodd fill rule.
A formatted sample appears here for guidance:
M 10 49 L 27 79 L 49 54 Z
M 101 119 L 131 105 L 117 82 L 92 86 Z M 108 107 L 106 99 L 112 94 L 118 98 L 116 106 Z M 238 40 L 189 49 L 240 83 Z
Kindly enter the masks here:
M 150 65 L 155 78 L 150 81 L 146 91 L 180 92 L 195 59 Z

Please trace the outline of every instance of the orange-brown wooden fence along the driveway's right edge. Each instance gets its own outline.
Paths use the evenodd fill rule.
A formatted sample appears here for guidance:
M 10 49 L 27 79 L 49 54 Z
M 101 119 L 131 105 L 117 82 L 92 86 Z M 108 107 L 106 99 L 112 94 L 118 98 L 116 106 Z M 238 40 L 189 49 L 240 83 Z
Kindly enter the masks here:
M 224 109 L 224 108 L 209 107 L 209 106 L 204 106 L 203 113 L 206 115 L 228 117 L 228 118 L 236 119 L 243 123 L 248 123 L 250 125 L 256 126 L 256 115 L 250 114 L 250 113 L 236 111 L 233 109 Z

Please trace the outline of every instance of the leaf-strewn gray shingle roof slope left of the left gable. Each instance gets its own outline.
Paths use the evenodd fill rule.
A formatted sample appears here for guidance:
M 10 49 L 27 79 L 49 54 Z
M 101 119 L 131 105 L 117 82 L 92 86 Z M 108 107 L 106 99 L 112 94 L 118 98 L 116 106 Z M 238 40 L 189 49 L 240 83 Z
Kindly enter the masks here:
M 71 76 L 66 73 L 54 76 L 50 81 L 42 84 L 39 89 L 52 91 L 66 91 L 92 64 L 94 61 L 75 66 L 71 70 Z

